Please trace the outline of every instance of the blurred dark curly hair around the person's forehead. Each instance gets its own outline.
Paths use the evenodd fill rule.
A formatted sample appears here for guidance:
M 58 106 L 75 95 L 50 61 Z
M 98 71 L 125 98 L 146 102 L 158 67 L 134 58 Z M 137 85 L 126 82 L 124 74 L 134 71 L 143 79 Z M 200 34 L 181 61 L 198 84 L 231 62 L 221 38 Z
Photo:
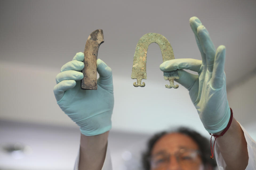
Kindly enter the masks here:
M 170 132 L 163 131 L 163 132 L 157 133 L 149 139 L 147 143 L 147 150 L 142 154 L 142 164 L 143 164 L 144 170 L 150 170 L 151 151 L 155 143 L 158 141 L 158 139 L 160 139 L 162 136 L 168 133 L 181 133 L 191 137 L 197 143 L 199 150 L 201 151 L 201 158 L 205 167 L 212 167 L 212 168 L 216 167 L 217 165 L 216 161 L 210 158 L 210 153 L 211 153 L 210 141 L 194 130 L 190 130 L 185 127 L 180 127 L 174 131 L 170 131 Z

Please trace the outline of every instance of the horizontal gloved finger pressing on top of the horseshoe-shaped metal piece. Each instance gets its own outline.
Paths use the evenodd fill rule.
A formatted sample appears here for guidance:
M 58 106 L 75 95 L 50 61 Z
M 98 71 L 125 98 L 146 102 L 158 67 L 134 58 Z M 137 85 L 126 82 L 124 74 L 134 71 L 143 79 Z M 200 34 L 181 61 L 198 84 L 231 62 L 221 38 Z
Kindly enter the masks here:
M 198 72 L 202 65 L 202 60 L 196 60 L 192 58 L 181 58 L 181 59 L 173 59 L 163 62 L 160 65 L 160 70 L 164 72 L 188 69 L 192 71 Z

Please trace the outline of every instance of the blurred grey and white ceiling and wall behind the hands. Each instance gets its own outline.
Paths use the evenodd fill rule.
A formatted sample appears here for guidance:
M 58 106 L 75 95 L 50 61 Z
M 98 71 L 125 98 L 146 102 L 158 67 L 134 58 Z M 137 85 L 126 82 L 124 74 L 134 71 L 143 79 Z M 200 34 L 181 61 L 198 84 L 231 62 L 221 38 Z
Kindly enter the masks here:
M 149 32 L 165 36 L 175 58 L 201 59 L 189 18 L 217 48 L 226 46 L 227 95 L 234 117 L 256 139 L 256 1 L 0 1 L 0 169 L 72 169 L 80 131 L 58 107 L 55 76 L 87 37 L 103 29 L 98 58 L 113 70 L 109 146 L 113 168 L 140 169 L 146 140 L 187 126 L 210 139 L 188 91 L 167 89 L 160 48 L 147 53 L 146 86 L 133 87 L 133 56 Z M 209 146 L 210 147 L 210 146 Z

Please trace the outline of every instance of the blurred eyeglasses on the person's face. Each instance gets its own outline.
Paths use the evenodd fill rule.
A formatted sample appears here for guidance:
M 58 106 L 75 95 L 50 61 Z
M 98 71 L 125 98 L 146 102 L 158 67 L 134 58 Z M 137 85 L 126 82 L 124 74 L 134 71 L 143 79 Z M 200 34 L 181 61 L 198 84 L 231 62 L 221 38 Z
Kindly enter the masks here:
M 162 169 L 166 168 L 170 163 L 171 156 L 175 156 L 177 162 L 181 167 L 194 167 L 200 162 L 200 154 L 198 150 L 181 149 L 173 154 L 165 151 L 159 152 L 151 157 L 151 168 Z

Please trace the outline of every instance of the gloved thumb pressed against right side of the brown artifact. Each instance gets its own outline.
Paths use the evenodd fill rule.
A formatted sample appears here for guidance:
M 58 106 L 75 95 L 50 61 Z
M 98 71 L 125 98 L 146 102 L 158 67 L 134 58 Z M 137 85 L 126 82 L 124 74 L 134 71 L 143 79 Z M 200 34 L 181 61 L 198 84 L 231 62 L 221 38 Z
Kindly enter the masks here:
M 101 59 L 97 60 L 97 71 L 99 73 L 98 82 L 104 85 L 113 83 L 112 80 L 112 69 L 106 65 Z

